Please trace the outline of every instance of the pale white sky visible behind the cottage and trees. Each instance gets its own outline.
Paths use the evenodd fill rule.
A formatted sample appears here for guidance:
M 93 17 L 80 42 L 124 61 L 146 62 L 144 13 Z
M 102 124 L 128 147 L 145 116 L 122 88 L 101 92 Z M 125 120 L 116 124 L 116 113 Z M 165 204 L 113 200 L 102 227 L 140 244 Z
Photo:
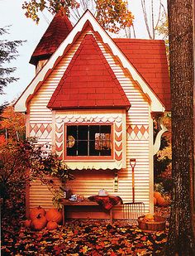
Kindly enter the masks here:
M 148 2 L 148 12 L 150 12 L 150 1 L 145 0 L 146 3 Z M 22 46 L 19 46 L 17 60 L 12 60 L 10 65 L 17 67 L 17 70 L 12 75 L 19 78 L 19 80 L 7 85 L 7 88 L 4 89 L 5 94 L 0 95 L 0 105 L 6 101 L 11 103 L 16 100 L 35 76 L 35 66 L 29 64 L 29 60 L 53 18 L 49 12 L 45 12 L 44 15 L 40 13 L 40 22 L 36 25 L 36 22 L 26 18 L 25 11 L 21 8 L 22 2 L 24 0 L 0 0 L 0 27 L 11 26 L 9 35 L 6 35 L 5 38 L 1 37 L 0 40 L 26 41 Z M 148 38 L 140 0 L 129 1 L 129 8 L 135 17 L 136 38 Z M 157 9 L 158 6 L 156 6 Z

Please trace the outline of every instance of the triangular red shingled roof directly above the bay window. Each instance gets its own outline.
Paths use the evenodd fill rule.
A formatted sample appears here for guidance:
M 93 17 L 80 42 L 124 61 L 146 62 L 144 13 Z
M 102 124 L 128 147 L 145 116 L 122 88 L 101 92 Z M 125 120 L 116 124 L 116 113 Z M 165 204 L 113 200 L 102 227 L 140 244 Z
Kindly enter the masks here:
M 86 35 L 48 108 L 129 108 L 130 102 L 93 35 Z

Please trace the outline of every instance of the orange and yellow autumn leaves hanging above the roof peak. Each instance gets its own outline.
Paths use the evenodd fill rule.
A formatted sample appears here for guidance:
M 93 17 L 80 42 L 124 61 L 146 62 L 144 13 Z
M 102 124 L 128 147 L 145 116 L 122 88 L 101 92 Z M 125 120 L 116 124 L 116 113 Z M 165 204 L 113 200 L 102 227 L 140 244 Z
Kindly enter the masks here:
M 131 27 L 133 15 L 127 8 L 127 2 L 123 0 L 30 0 L 23 3 L 22 8 L 26 10 L 26 17 L 30 17 L 36 23 L 39 22 L 39 12 L 47 10 L 52 14 L 64 12 L 68 17 L 75 13 L 77 19 L 88 8 L 94 13 L 100 25 L 111 32 L 118 32 L 121 28 Z M 78 11 L 82 9 L 82 11 Z

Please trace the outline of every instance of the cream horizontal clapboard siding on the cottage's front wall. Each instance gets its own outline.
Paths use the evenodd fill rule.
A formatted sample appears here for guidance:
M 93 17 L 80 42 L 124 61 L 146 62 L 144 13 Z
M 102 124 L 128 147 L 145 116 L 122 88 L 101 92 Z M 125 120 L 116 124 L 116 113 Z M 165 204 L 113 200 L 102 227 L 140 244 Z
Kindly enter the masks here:
M 88 31 L 88 33 L 93 33 Z M 52 73 L 48 76 L 45 82 L 37 90 L 36 94 L 31 99 L 29 106 L 30 110 L 30 124 L 35 123 L 48 123 L 52 125 L 52 113 L 46 106 L 50 100 L 51 95 L 54 93 L 55 88 L 59 84 L 59 80 L 64 71 L 69 65 L 71 58 L 74 56 L 74 52 L 78 49 L 80 42 L 83 39 L 83 34 L 78 37 L 74 46 L 72 46 L 65 56 L 59 61 L 59 64 L 55 67 Z M 145 94 L 142 93 L 136 82 L 131 79 L 131 75 L 126 69 L 121 66 L 121 63 L 116 56 L 112 56 L 107 46 L 98 40 L 98 45 L 102 50 L 103 55 L 107 59 L 109 65 L 117 76 L 117 80 L 120 81 L 122 88 L 124 89 L 126 96 L 131 102 L 131 108 L 126 115 L 126 129 L 129 125 L 146 125 L 150 123 L 150 106 Z M 151 132 L 151 131 L 150 131 Z M 31 136 L 31 134 L 29 134 Z M 132 171 L 129 163 L 130 158 L 136 158 L 135 167 L 135 192 L 136 201 L 142 201 L 145 203 L 146 211 L 149 211 L 150 205 L 150 187 L 153 180 L 150 177 L 150 142 L 148 138 L 130 139 L 126 133 L 126 169 L 118 171 L 118 191 L 114 192 L 114 172 L 113 171 L 74 171 L 74 181 L 69 181 L 68 185 L 72 191 L 76 194 L 83 195 L 85 197 L 97 195 L 100 189 L 106 189 L 110 195 L 121 196 L 124 202 L 132 201 Z M 50 136 L 42 138 L 40 136 L 40 142 L 52 142 L 51 133 Z M 45 208 L 52 207 L 52 195 L 48 192 L 47 188 L 35 182 L 31 184 L 30 188 L 30 208 L 42 205 Z M 70 213 L 71 216 L 71 213 Z M 79 215 L 77 213 L 72 216 L 86 216 Z M 91 214 L 91 217 L 97 217 L 96 214 Z M 121 206 L 115 207 L 114 218 L 121 218 Z

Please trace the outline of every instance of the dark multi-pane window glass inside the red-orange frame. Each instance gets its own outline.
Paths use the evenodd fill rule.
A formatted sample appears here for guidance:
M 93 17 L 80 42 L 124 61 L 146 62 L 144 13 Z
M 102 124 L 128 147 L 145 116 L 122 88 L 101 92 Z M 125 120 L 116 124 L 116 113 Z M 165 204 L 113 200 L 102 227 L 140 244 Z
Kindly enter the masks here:
M 111 125 L 67 125 L 66 156 L 111 156 L 111 131 Z

